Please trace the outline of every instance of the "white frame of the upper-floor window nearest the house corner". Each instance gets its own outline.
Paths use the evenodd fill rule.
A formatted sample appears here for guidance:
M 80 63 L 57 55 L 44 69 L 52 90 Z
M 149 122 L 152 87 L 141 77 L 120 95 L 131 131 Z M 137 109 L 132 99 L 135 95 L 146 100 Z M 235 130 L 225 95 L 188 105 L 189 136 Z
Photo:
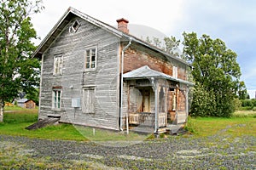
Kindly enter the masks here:
M 92 65 L 92 50 L 95 49 L 95 60 L 94 60 L 94 67 L 91 67 Z M 87 56 L 87 51 L 90 51 L 90 56 Z M 90 47 L 86 47 L 84 49 L 84 71 L 96 71 L 96 65 L 97 65 L 97 47 L 96 45 L 90 46 Z M 87 59 L 90 59 L 89 65 L 90 67 L 87 67 Z

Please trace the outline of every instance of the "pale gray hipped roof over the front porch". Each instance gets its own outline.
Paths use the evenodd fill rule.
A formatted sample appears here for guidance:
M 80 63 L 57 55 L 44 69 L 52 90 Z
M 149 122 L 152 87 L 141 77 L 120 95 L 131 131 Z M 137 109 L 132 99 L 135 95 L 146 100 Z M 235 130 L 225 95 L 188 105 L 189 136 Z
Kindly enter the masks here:
M 144 79 L 144 78 L 151 78 L 151 77 L 159 77 L 164 78 L 167 80 L 172 80 L 174 82 L 181 82 L 183 84 L 187 84 L 189 86 L 194 86 L 195 84 L 193 82 L 188 82 L 179 78 L 171 77 L 169 75 L 166 75 L 165 73 L 162 73 L 160 71 L 154 71 L 148 67 L 148 65 L 145 65 L 143 67 L 140 67 L 134 71 L 126 72 L 123 75 L 125 80 L 133 80 L 133 79 Z

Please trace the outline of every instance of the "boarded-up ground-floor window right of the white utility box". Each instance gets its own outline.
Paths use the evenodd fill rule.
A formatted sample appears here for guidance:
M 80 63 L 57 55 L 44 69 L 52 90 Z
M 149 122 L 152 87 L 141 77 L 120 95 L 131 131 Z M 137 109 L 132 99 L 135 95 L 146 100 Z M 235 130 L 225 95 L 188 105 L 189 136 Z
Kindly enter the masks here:
M 83 91 L 83 113 L 95 113 L 95 88 L 84 88 Z

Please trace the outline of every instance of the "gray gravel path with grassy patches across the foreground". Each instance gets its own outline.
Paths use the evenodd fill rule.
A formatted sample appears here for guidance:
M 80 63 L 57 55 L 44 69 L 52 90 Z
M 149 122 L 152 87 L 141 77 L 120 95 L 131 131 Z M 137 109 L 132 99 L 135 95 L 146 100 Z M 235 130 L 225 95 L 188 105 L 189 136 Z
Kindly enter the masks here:
M 0 134 L 0 146 L 22 144 L 32 157 L 50 161 L 93 161 L 102 169 L 256 169 L 256 138 L 215 135 L 178 137 L 138 144 L 100 144 L 28 139 Z M 0 147 L 1 149 L 1 147 Z M 1 164 L 0 164 L 1 165 Z

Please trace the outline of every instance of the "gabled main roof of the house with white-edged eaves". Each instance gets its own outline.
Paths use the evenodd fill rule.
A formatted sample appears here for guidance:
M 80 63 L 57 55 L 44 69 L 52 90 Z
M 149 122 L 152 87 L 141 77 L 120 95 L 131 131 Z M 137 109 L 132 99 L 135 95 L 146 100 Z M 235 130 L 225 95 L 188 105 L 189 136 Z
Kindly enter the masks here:
M 175 59 L 175 60 L 183 63 L 184 65 L 189 65 L 187 62 L 183 61 L 182 59 L 178 59 L 177 57 L 172 56 L 172 54 L 167 54 L 165 51 L 149 44 L 148 42 L 144 42 L 143 40 L 141 40 L 137 37 L 134 37 L 134 36 L 131 36 L 130 34 L 126 34 L 122 31 L 119 31 L 117 28 L 110 26 L 100 20 L 96 20 L 95 18 L 91 17 L 90 15 L 84 14 L 84 13 L 80 12 L 79 10 L 72 8 L 72 7 L 69 7 L 67 9 L 65 14 L 63 14 L 63 16 L 61 17 L 61 19 L 55 24 L 55 26 L 51 29 L 51 31 L 49 31 L 49 34 L 46 37 L 44 37 L 44 40 L 38 45 L 38 48 L 32 54 L 32 57 L 40 58 L 41 55 L 44 53 L 44 51 L 47 48 L 49 48 L 50 44 L 55 41 L 55 38 L 58 37 L 59 34 L 61 34 L 61 31 L 63 31 L 63 29 L 67 26 L 68 22 L 73 18 L 73 16 L 79 16 L 83 20 L 86 20 L 95 26 L 99 26 L 102 29 L 113 33 L 113 35 L 115 35 L 117 37 L 125 38 L 127 40 L 132 40 L 139 44 L 142 44 L 143 46 L 145 46 L 147 48 L 150 48 L 156 52 L 159 52 L 160 54 L 163 54 L 166 57 L 166 59 L 169 59 L 169 58 Z

